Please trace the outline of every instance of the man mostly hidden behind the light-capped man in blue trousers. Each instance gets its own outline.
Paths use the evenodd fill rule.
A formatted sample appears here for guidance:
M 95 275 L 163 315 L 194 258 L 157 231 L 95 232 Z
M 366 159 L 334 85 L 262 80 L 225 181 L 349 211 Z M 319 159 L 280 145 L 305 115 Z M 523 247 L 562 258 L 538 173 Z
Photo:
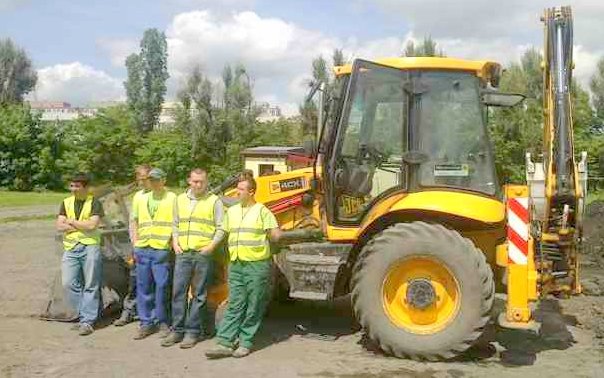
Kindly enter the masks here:
M 138 212 L 138 203 L 144 194 L 151 191 L 149 184 L 149 171 L 151 167 L 147 164 L 139 165 L 134 169 L 136 184 L 139 190 L 134 193 L 132 197 L 132 207 L 130 208 L 130 240 L 132 235 L 136 232 L 136 228 L 133 222 L 133 214 Z M 136 264 L 134 263 L 134 257 L 130 256 L 127 260 L 129 280 L 128 280 L 128 293 L 124 297 L 122 302 L 122 313 L 120 317 L 113 323 L 116 327 L 122 327 L 126 324 L 134 321 L 136 316 Z

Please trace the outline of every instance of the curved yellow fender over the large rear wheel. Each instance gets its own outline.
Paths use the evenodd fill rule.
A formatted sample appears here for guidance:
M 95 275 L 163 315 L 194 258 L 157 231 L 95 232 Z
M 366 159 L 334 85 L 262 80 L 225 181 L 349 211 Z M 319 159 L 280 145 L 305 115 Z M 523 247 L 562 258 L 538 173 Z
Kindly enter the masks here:
M 485 223 L 505 219 L 504 204 L 494 198 L 444 190 L 411 193 L 390 208 L 398 210 L 436 211 Z

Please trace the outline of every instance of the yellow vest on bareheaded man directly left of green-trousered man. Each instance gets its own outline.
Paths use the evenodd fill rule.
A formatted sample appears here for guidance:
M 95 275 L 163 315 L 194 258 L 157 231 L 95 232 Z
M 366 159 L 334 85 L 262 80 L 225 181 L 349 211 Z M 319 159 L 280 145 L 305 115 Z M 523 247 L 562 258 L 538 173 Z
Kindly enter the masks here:
M 216 231 L 216 201 L 218 197 L 210 194 L 199 199 L 191 210 L 191 199 L 187 193 L 178 196 L 178 244 L 184 251 L 199 250 L 212 242 Z

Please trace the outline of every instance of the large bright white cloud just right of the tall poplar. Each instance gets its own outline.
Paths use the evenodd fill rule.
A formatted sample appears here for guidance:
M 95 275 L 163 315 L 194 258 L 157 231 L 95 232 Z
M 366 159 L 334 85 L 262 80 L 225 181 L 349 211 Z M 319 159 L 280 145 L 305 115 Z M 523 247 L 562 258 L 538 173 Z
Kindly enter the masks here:
M 257 98 L 278 99 L 282 107 L 301 101 L 312 59 L 329 56 L 342 42 L 278 18 L 254 12 L 228 16 L 210 11 L 181 13 L 168 31 L 168 66 L 173 88 L 195 65 L 217 79 L 225 64 L 242 63 Z

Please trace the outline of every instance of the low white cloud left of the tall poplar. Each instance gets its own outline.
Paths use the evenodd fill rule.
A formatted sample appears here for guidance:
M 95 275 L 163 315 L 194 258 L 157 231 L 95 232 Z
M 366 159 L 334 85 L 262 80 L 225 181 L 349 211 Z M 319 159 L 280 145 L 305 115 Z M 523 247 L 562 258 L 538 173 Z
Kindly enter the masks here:
M 123 100 L 124 90 L 120 80 L 80 62 L 72 62 L 39 69 L 38 84 L 28 97 L 85 105 L 91 101 Z

